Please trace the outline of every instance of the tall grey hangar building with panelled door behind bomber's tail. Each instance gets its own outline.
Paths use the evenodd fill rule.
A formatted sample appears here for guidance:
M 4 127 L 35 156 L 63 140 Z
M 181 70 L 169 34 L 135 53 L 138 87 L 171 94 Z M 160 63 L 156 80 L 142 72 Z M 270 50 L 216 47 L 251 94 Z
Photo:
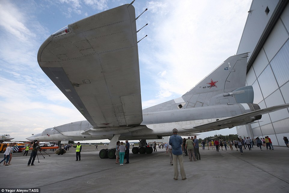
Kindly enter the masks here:
M 289 6 L 287 0 L 253 0 L 237 54 L 249 53 L 246 84 L 254 89 L 261 109 L 289 103 Z M 258 122 L 238 126 L 239 136 L 269 136 L 273 145 L 289 138 L 288 108 L 262 115 Z

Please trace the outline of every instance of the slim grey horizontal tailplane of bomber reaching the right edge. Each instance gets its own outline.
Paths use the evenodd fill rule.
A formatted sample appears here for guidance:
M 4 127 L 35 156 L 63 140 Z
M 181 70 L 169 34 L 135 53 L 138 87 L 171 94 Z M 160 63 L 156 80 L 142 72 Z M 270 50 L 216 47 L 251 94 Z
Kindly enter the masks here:
M 232 128 L 234 126 L 244 125 L 246 123 L 252 122 L 255 119 L 255 116 L 270 113 L 273 111 L 278 111 L 280 109 L 284 109 L 284 108 L 288 108 L 288 107 L 289 107 L 289 103 L 281 104 L 281 105 L 276 105 L 276 106 L 268 107 L 265 109 L 260 109 L 257 111 L 252 111 L 249 113 L 237 115 L 237 116 L 230 117 L 227 119 L 218 120 L 218 121 L 214 121 L 211 123 L 206 123 L 206 124 L 199 125 L 199 126 L 187 125 L 187 126 L 183 126 L 182 128 L 183 129 L 197 129 L 196 132 L 213 131 L 213 130 L 224 129 L 224 128 Z

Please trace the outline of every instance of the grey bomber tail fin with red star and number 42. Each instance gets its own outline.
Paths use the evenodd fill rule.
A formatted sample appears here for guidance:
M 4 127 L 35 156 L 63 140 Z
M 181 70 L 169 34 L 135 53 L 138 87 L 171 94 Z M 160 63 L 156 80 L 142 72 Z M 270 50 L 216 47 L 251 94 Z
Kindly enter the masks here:
M 245 87 L 247 57 L 248 52 L 225 60 L 182 96 L 184 107 L 239 103 L 239 101 L 253 103 L 253 88 Z

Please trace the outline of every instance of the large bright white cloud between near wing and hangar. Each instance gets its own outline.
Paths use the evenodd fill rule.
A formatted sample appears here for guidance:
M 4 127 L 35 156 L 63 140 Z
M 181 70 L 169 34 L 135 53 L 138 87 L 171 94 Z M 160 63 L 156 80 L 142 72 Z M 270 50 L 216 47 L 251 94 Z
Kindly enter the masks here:
M 162 93 L 183 95 L 236 53 L 251 1 L 149 2 L 154 28 L 140 46 L 140 63 Z M 169 10 L 169 12 L 168 12 Z M 234 17 L 232 17 L 234 16 Z M 147 30 L 147 28 L 146 28 Z M 139 50 L 143 51 L 139 48 Z M 166 74 L 160 76 L 163 72 Z M 142 72 L 144 73 L 144 72 Z M 167 91 L 167 92 L 165 92 Z M 144 94 L 144 93 L 143 93 Z M 165 95 L 157 95 L 164 97 Z

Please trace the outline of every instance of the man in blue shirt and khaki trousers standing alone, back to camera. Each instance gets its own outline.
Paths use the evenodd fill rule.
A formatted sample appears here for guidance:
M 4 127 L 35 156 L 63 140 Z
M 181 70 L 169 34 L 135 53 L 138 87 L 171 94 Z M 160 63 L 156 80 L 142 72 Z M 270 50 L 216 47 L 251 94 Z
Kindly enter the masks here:
M 183 165 L 183 151 L 182 151 L 183 139 L 181 138 L 181 136 L 178 135 L 178 129 L 175 128 L 172 131 L 173 131 L 173 135 L 170 136 L 169 145 L 172 146 L 173 166 L 174 166 L 174 172 L 175 172 L 174 179 L 178 180 L 178 176 L 179 176 L 178 160 L 179 160 L 182 180 L 185 180 L 187 178 L 186 178 L 186 173 L 185 173 L 184 165 Z

